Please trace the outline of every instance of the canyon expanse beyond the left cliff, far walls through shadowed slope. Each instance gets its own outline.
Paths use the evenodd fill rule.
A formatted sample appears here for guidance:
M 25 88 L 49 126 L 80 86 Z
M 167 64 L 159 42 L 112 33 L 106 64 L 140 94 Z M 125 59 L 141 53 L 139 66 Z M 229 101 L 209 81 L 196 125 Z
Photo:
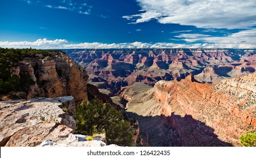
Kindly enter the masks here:
M 90 84 L 122 98 L 146 146 L 241 146 L 255 131 L 255 49 L 65 51 Z

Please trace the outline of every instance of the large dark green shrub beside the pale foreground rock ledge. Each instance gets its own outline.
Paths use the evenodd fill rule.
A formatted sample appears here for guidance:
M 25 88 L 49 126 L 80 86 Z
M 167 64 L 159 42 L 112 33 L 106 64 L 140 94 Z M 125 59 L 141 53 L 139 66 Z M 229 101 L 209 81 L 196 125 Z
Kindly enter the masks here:
M 76 107 L 76 133 L 93 135 L 106 133 L 109 144 L 133 146 L 133 132 L 130 122 L 122 112 L 98 99 L 83 102 Z

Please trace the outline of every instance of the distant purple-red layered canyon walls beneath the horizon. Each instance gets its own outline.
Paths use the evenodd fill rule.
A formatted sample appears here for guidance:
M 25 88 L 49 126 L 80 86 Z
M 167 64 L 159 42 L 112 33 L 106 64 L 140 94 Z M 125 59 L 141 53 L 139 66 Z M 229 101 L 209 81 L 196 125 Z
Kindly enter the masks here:
M 110 95 L 133 84 L 154 86 L 160 80 L 183 79 L 216 84 L 255 72 L 255 49 L 71 49 L 70 57 L 89 75 L 89 82 Z

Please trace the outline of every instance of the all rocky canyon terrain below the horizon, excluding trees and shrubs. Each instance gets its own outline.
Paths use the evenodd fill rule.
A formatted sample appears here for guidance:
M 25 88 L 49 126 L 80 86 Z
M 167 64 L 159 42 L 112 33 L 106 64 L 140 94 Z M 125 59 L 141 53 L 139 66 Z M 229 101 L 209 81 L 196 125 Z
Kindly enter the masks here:
M 99 98 L 137 120 L 137 146 L 241 146 L 239 137 L 256 131 L 255 69 L 254 49 L 74 49 L 26 56 L 11 73 L 33 82 L 16 98 L 1 95 L 0 145 L 106 146 L 74 134 L 75 107 Z

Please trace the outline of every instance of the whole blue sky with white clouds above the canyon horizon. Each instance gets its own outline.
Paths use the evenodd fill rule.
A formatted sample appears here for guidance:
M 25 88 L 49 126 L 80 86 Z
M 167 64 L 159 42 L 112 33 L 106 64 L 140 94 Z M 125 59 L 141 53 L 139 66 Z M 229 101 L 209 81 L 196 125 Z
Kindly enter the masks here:
M 255 0 L 1 0 L 0 47 L 256 49 Z

